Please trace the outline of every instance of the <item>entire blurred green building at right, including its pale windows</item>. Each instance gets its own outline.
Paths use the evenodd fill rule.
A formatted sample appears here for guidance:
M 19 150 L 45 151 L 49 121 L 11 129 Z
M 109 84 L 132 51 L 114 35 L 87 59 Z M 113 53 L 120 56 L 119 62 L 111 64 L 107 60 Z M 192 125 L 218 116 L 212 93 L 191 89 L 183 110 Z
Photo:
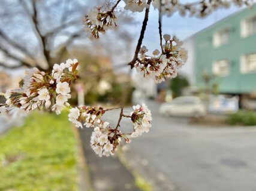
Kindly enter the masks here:
M 216 76 L 219 93 L 255 97 L 256 5 L 196 33 L 185 47 L 195 85 L 203 87 L 203 73 L 209 73 Z

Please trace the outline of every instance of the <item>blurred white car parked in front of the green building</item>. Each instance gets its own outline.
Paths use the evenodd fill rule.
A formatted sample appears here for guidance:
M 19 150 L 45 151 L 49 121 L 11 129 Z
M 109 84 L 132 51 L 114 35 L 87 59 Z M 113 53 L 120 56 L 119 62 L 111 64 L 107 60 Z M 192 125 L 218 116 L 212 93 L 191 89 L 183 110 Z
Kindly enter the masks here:
M 206 107 L 200 98 L 194 96 L 182 96 L 174 98 L 169 103 L 160 106 L 159 113 L 164 116 L 192 116 L 206 115 Z

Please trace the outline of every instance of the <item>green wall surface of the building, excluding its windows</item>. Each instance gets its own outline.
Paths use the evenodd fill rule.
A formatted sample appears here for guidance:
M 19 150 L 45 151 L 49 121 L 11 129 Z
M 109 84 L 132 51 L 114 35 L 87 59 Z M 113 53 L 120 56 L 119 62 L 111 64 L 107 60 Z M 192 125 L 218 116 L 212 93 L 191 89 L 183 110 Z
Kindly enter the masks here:
M 198 87 L 203 87 L 203 72 L 212 74 L 212 64 L 215 61 L 227 59 L 230 62 L 230 74 L 214 79 L 220 93 L 248 94 L 256 92 L 256 73 L 240 72 L 240 57 L 256 53 L 256 34 L 243 38 L 240 34 L 241 21 L 256 16 L 256 5 L 245 9 L 208 27 L 195 38 L 195 75 Z M 213 46 L 213 35 L 221 29 L 230 29 L 229 41 L 221 47 Z

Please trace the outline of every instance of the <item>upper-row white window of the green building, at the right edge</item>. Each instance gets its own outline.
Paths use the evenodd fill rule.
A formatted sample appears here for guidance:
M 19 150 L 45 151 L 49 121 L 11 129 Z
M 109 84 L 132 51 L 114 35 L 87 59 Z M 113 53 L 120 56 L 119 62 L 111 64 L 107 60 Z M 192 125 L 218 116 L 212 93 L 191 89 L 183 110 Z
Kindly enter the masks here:
M 252 20 L 256 19 L 256 15 L 243 19 L 240 23 L 240 35 L 243 38 L 256 34 Z

